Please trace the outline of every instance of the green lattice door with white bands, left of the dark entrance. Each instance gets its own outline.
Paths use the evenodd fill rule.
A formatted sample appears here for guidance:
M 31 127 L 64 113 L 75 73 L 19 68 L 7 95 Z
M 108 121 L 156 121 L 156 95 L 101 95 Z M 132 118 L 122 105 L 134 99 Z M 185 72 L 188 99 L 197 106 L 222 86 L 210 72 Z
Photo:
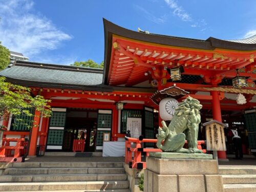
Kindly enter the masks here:
M 53 108 L 49 123 L 47 150 L 62 150 L 65 122 L 66 109 Z

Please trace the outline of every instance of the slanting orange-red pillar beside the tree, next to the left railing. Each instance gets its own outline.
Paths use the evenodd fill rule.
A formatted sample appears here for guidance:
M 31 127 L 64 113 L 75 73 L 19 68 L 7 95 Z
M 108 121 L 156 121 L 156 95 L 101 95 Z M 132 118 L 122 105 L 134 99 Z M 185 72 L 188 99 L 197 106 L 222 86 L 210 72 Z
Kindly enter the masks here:
M 29 138 L 30 139 L 29 154 L 28 154 L 29 156 L 35 156 L 35 153 L 36 153 L 39 124 L 40 124 L 40 112 L 36 110 L 35 116 L 34 116 L 34 122 L 32 126 L 31 138 Z

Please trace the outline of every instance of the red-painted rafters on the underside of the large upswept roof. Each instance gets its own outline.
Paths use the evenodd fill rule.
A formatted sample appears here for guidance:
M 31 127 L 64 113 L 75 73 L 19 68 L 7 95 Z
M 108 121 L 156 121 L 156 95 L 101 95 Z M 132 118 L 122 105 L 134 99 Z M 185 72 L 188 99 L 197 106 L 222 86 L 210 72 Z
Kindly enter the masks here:
M 113 40 L 114 54 L 109 75 L 110 84 L 136 84 L 145 79 L 144 72 L 152 68 L 174 68 L 183 66 L 184 74 L 209 75 L 221 74 L 251 66 L 256 58 L 254 52 L 236 52 L 228 50 L 188 50 L 182 48 L 161 47 L 146 42 L 134 42 L 127 39 Z M 231 77 L 230 77 L 231 78 Z

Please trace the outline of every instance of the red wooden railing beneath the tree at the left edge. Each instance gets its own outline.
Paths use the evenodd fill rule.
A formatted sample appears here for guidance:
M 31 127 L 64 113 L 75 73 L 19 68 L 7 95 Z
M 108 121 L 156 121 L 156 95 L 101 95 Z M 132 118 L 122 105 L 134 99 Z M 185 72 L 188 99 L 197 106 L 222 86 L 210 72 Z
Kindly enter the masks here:
M 15 146 L 10 146 L 10 142 L 16 142 Z M 24 138 L 3 138 L 0 147 L 0 162 L 24 162 L 27 142 Z M 14 151 L 13 155 L 12 151 Z

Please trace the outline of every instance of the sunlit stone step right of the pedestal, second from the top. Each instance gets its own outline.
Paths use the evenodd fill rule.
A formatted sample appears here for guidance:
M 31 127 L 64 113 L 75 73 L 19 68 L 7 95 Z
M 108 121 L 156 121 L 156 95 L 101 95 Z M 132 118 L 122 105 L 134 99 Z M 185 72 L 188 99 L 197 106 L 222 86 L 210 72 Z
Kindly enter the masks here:
M 222 175 L 223 184 L 256 183 L 256 175 Z

